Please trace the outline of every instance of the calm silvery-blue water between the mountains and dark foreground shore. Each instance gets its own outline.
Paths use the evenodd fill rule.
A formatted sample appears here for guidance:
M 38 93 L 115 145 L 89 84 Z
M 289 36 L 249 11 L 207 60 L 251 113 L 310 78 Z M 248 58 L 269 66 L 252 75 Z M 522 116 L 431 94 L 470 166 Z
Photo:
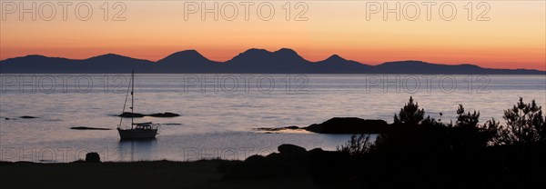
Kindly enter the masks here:
M 257 127 L 306 126 L 334 116 L 392 121 L 410 95 L 430 116 L 449 122 L 458 104 L 481 122 L 519 97 L 546 102 L 544 75 L 136 75 L 135 111 L 163 124 L 156 140 L 120 142 L 115 129 L 128 75 L 1 75 L 3 161 L 69 162 L 96 151 L 106 161 L 244 159 L 279 144 L 332 150 L 345 134 L 266 134 Z M 31 115 L 39 118 L 21 119 Z M 9 118 L 6 120 L 5 118 Z M 127 120 L 124 120 L 124 124 Z

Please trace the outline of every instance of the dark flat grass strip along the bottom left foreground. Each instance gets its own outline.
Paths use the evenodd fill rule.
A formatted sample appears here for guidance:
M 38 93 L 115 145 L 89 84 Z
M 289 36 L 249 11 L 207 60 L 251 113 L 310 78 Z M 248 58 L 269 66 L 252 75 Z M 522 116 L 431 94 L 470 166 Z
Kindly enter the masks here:
M 2 188 L 315 188 L 310 177 L 223 180 L 222 160 L 134 163 L 0 163 Z

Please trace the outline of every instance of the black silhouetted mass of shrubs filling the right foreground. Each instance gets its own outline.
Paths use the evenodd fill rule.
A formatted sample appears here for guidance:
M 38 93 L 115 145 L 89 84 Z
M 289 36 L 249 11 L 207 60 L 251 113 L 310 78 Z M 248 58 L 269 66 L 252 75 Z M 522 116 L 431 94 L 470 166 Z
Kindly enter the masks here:
M 480 112 L 460 104 L 457 118 L 443 124 L 425 117 L 410 97 L 374 144 L 367 135 L 352 135 L 338 147 L 350 154 L 339 159 L 348 165 L 319 175 L 346 173 L 329 176 L 341 181 L 350 175 L 343 182 L 355 188 L 543 188 L 546 127 L 541 107 L 520 99 L 504 119 L 506 125 L 494 118 L 480 124 Z

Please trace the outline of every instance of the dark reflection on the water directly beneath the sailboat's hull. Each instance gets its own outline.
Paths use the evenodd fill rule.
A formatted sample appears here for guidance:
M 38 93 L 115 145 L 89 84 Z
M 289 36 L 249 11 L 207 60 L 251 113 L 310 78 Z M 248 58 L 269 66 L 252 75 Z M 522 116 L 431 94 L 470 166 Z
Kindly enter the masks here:
M 120 161 L 140 161 L 153 159 L 157 151 L 157 139 L 120 140 L 117 151 L 123 154 Z

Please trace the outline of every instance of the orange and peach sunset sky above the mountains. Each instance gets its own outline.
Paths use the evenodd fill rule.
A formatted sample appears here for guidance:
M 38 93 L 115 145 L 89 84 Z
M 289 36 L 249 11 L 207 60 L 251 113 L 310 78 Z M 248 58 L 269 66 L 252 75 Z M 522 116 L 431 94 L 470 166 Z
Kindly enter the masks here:
M 226 61 L 248 48 L 286 47 L 309 61 L 340 55 L 367 65 L 422 60 L 546 70 L 546 3 L 541 0 L 93 0 L 0 5 L 0 60 L 24 55 L 85 59 L 113 53 L 157 61 L 195 49 L 211 60 Z

